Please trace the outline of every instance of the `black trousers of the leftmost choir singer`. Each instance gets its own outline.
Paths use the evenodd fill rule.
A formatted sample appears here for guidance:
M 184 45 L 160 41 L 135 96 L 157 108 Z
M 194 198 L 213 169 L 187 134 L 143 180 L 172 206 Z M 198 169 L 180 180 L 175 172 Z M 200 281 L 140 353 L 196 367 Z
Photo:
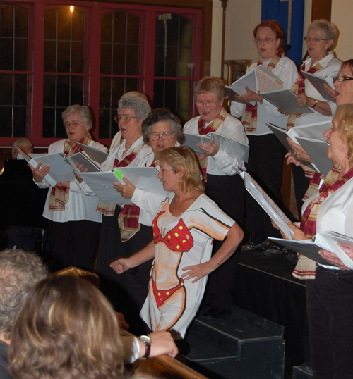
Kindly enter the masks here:
M 100 237 L 100 223 L 80 220 L 49 221 L 52 271 L 74 266 L 92 271 Z

